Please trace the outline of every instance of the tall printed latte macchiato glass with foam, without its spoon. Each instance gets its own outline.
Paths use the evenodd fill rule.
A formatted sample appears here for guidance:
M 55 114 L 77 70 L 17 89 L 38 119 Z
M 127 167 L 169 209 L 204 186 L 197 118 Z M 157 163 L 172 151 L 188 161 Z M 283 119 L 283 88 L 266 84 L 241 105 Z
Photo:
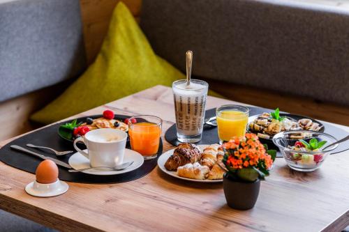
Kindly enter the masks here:
M 201 140 L 208 88 L 207 82 L 198 79 L 191 79 L 189 85 L 186 84 L 185 79 L 173 82 L 172 91 L 179 141 L 196 143 Z

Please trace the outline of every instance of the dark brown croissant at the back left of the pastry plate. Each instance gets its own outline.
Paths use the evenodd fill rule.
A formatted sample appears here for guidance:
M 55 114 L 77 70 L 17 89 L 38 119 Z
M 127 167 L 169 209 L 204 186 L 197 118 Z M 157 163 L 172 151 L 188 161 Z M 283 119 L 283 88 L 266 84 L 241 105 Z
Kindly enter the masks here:
M 165 162 L 165 169 L 175 171 L 178 167 L 185 164 L 193 164 L 198 162 L 201 158 L 201 150 L 195 144 L 179 144 Z

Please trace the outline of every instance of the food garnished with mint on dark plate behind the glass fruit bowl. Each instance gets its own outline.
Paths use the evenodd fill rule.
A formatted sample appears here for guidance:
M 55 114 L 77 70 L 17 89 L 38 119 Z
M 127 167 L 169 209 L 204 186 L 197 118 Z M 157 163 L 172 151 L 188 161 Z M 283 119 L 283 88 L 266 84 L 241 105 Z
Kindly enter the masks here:
M 312 130 L 319 131 L 322 126 L 313 122 L 310 118 L 302 118 L 295 121 L 293 118 L 281 117 L 279 108 L 271 113 L 263 113 L 248 125 L 248 130 L 257 134 L 262 139 L 271 139 L 275 134 L 288 130 Z M 310 137 L 311 134 L 306 132 L 295 132 L 291 135 L 291 139 L 304 139 Z

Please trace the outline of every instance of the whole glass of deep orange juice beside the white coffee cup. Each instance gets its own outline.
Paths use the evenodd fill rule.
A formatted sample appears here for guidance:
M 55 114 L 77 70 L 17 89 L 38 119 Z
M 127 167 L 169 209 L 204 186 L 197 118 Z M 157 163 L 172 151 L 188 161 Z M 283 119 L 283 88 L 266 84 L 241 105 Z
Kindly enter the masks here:
M 131 148 L 143 155 L 144 160 L 156 158 L 161 137 L 161 118 L 140 115 L 128 120 Z

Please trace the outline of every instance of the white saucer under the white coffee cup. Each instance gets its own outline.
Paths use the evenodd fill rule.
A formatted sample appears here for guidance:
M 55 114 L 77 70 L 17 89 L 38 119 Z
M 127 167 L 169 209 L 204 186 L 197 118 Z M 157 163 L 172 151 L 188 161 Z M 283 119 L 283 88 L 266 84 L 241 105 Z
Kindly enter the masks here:
M 87 152 L 87 149 L 84 151 Z M 82 171 L 82 172 L 91 174 L 91 175 L 101 175 L 101 176 L 126 173 L 128 171 L 133 171 L 141 167 L 142 164 L 144 163 L 144 158 L 142 155 L 140 155 L 140 153 L 134 150 L 125 149 L 124 162 L 131 162 L 131 161 L 133 161 L 133 164 L 127 169 L 124 169 L 121 171 L 105 171 L 101 169 L 101 171 Z M 75 153 L 74 155 L 70 156 L 68 163 L 73 169 L 87 169 L 91 167 L 89 165 L 89 160 L 87 159 L 87 157 L 84 157 L 84 155 L 81 155 L 80 153 Z

